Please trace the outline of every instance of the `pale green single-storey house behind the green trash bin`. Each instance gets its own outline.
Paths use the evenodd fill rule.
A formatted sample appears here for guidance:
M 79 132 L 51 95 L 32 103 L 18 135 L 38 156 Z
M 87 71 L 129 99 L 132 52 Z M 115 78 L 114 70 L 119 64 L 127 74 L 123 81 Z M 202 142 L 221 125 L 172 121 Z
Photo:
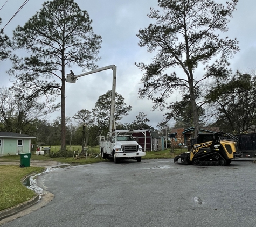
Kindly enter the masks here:
M 0 132 L 0 156 L 30 152 L 32 138 L 36 137 L 13 132 Z

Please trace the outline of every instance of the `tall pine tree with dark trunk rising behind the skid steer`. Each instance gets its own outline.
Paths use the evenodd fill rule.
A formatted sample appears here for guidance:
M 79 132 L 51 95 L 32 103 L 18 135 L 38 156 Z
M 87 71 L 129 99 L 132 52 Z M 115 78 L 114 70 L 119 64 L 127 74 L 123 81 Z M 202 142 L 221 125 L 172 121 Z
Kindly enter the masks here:
M 162 110 L 175 91 L 189 94 L 195 134 L 199 132 L 198 100 L 202 98 L 196 90 L 209 77 L 227 77 L 227 60 L 239 50 L 236 39 L 220 38 L 218 33 L 227 31 L 236 4 L 237 0 L 225 5 L 209 0 L 158 0 L 161 10 L 151 8 L 148 15 L 154 24 L 137 34 L 139 46 L 155 53 L 151 63 L 136 63 L 144 71 L 140 97 L 151 99 L 154 109 Z M 196 71 L 199 65 L 204 65 L 203 73 Z M 170 68 L 181 68 L 183 74 Z

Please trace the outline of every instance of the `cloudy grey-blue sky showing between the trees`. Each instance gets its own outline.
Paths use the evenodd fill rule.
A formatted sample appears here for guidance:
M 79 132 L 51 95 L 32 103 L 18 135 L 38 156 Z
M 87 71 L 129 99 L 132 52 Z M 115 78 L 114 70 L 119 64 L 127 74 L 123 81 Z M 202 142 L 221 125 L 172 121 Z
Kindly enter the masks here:
M 6 0 L 0 0 L 0 8 Z M 8 0 L 0 10 L 2 18 L 1 27 L 5 26 L 16 13 L 25 0 Z M 17 25 L 23 26 L 36 11 L 39 11 L 43 0 L 30 0 L 24 8 L 5 27 L 4 33 L 12 36 L 12 31 Z M 123 117 L 122 123 L 131 123 L 139 112 L 147 114 L 149 124 L 156 127 L 161 122 L 165 112 L 151 111 L 150 100 L 140 100 L 138 90 L 142 85 L 140 79 L 143 72 L 135 66 L 135 62 L 149 63 L 152 55 L 146 48 L 138 46 L 139 38 L 136 37 L 139 29 L 153 23 L 147 17 L 150 7 L 157 8 L 157 0 L 77 0 L 82 10 L 87 10 L 93 20 L 92 27 L 95 34 L 102 36 L 102 46 L 99 53 L 101 60 L 98 66 L 117 66 L 116 91 L 121 94 L 127 105 L 132 105 L 132 111 Z M 218 0 L 218 2 L 224 2 Z M 239 1 L 237 10 L 229 23 L 226 36 L 237 38 L 240 52 L 230 60 L 233 70 L 250 72 L 255 69 L 256 62 L 256 1 Z M 9 61 L 0 62 L 1 87 L 12 85 L 11 77 L 6 70 L 11 68 Z M 66 73 L 70 72 L 66 68 Z M 83 73 L 77 66 L 72 67 L 76 75 Z M 66 115 L 72 117 L 81 109 L 92 110 L 100 95 L 112 89 L 112 70 L 80 77 L 77 83 L 66 85 Z M 179 94 L 174 94 L 170 101 L 178 100 Z M 53 113 L 49 120 L 60 116 L 60 112 Z M 170 123 L 172 126 L 173 123 Z

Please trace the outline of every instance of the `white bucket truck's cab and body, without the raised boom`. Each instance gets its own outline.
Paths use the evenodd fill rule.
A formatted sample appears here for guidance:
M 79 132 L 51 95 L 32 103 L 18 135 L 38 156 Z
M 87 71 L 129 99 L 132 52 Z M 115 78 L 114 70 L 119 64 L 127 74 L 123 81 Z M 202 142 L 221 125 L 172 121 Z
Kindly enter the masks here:
M 100 152 L 102 158 L 113 158 L 117 163 L 121 159 L 136 159 L 141 161 L 141 157 L 146 155 L 141 145 L 133 138 L 132 132 L 144 132 L 144 130 L 116 130 L 100 138 Z

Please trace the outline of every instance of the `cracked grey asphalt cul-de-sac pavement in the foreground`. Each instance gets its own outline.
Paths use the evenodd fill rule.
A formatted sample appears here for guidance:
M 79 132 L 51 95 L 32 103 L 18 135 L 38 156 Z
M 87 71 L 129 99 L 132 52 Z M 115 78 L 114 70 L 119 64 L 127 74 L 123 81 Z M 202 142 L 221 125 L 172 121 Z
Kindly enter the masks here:
M 173 159 L 105 162 L 41 174 L 55 198 L 4 227 L 255 226 L 253 162 L 177 166 Z

